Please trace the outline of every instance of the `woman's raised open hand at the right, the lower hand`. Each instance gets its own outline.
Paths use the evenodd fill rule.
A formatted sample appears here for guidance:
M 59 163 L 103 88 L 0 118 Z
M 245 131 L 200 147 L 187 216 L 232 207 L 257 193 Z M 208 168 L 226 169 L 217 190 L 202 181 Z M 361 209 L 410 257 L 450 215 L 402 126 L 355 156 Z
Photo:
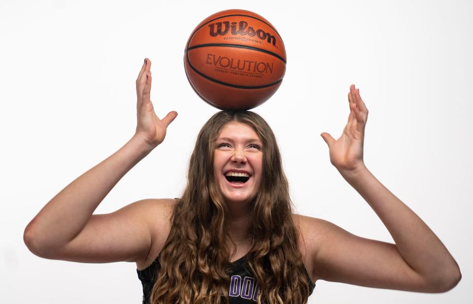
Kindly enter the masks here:
M 350 115 L 343 130 L 343 134 L 335 140 L 330 134 L 322 133 L 320 136 L 329 146 L 330 162 L 340 173 L 356 172 L 364 168 L 363 141 L 365 138 L 365 125 L 368 119 L 368 109 L 361 100 L 360 90 L 355 85 L 350 86 L 348 93 Z

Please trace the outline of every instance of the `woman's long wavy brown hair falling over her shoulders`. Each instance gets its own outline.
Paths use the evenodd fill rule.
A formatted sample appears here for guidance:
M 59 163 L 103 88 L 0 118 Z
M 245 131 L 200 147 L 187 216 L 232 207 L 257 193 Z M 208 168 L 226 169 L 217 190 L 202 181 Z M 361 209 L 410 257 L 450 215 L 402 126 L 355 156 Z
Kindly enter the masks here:
M 263 178 L 252 203 L 252 247 L 246 255 L 259 285 L 257 301 L 307 302 L 309 280 L 297 246 L 293 204 L 274 134 L 254 112 L 220 111 L 204 124 L 197 137 L 187 186 L 175 204 L 172 226 L 160 254 L 151 304 L 229 303 L 227 226 L 231 216 L 214 177 L 213 155 L 220 130 L 233 121 L 252 127 L 263 142 Z

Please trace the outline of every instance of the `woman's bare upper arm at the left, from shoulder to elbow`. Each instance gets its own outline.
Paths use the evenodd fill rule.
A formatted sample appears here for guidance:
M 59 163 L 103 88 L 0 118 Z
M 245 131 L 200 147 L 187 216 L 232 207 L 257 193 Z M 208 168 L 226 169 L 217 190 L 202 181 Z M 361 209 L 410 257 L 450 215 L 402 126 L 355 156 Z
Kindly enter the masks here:
M 169 221 L 169 200 L 141 200 L 107 214 L 93 214 L 82 231 L 46 258 L 82 263 L 136 262 Z

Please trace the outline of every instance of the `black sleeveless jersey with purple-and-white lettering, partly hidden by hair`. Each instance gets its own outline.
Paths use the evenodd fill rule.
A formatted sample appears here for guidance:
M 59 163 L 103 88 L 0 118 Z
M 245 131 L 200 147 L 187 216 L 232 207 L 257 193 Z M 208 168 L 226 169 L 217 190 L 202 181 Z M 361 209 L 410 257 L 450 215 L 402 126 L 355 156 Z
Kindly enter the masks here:
M 161 255 L 161 254 L 160 254 Z M 143 285 L 143 304 L 149 304 L 149 298 L 151 296 L 151 291 L 153 285 L 156 282 L 156 279 L 153 277 L 155 273 L 159 270 L 159 258 L 160 255 L 153 261 L 148 268 L 143 270 L 136 270 L 138 273 L 138 279 Z M 248 261 L 246 260 L 246 255 L 242 258 L 236 260 L 233 263 L 230 263 L 232 271 L 230 275 L 230 290 L 228 292 L 228 299 L 230 304 L 254 304 L 256 303 L 256 298 L 258 297 L 258 283 L 253 278 L 253 275 L 250 274 Z M 307 271 L 305 271 L 307 280 L 309 281 L 309 296 L 314 290 L 315 284 L 312 283 Z

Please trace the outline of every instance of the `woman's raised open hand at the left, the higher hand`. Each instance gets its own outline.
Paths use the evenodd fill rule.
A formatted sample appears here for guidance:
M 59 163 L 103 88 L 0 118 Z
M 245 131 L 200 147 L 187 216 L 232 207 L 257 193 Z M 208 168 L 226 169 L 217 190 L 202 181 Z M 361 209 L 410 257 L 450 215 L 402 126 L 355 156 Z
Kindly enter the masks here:
M 154 149 L 163 142 L 169 124 L 176 118 L 177 112 L 170 111 L 165 118 L 159 119 L 154 112 L 150 100 L 151 92 L 151 61 L 146 58 L 143 67 L 136 78 L 136 132 L 135 136 L 142 138 L 145 143 Z

